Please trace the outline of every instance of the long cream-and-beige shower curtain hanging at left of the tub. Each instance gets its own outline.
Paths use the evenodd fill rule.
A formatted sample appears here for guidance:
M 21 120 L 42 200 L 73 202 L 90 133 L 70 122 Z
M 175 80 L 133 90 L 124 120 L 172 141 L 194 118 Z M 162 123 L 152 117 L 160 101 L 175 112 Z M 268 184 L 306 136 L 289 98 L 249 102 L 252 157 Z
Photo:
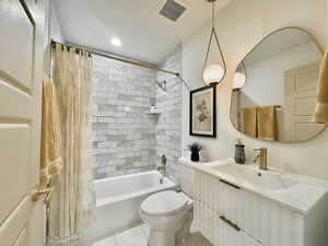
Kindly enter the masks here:
M 57 44 L 52 80 L 62 138 L 61 179 L 49 203 L 48 242 L 84 235 L 95 220 L 91 142 L 92 59 L 86 51 Z

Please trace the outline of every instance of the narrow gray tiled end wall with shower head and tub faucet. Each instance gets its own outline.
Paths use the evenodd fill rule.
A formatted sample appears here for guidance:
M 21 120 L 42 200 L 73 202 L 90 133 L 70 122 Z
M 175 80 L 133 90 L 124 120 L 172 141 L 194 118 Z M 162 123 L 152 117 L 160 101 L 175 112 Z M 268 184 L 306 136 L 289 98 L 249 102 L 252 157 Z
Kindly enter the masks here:
M 181 74 L 181 47 L 173 50 L 165 61 L 160 66 L 169 71 L 177 71 Z M 168 160 L 168 176 L 178 181 L 177 160 L 181 154 L 181 81 L 166 73 L 157 73 L 157 80 L 167 82 L 167 92 L 156 89 L 157 108 L 162 112 L 156 134 L 157 165 L 160 156 L 165 154 Z

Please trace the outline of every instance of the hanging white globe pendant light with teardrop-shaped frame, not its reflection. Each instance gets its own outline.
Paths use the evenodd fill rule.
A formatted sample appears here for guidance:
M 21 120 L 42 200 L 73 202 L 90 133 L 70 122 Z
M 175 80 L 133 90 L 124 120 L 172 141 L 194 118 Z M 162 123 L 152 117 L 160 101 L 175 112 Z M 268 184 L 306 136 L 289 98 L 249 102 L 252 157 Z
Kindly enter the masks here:
M 214 17 L 215 17 L 214 2 L 216 0 L 208 0 L 208 1 L 212 3 L 212 30 L 211 30 L 211 35 L 210 35 L 210 42 L 209 42 L 208 49 L 207 49 L 206 60 L 203 63 L 202 78 L 203 78 L 203 82 L 207 85 L 215 85 L 223 80 L 225 72 L 226 72 L 226 66 L 225 66 L 225 60 L 224 60 L 223 52 L 222 52 L 222 49 L 221 49 L 221 46 L 219 43 L 219 38 L 218 38 L 216 32 L 215 32 L 215 27 L 214 27 Z M 219 65 L 216 62 L 207 65 L 213 37 L 214 37 L 215 44 L 218 46 L 218 49 L 220 51 L 223 68 L 221 65 Z

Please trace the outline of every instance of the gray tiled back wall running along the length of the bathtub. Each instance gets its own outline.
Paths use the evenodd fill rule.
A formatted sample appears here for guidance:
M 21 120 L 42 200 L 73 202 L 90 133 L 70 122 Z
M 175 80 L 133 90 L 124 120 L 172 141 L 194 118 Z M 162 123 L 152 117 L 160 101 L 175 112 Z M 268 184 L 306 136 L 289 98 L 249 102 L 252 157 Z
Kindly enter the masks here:
M 96 178 L 155 167 L 156 121 L 143 114 L 155 97 L 155 75 L 152 70 L 94 56 L 92 121 Z

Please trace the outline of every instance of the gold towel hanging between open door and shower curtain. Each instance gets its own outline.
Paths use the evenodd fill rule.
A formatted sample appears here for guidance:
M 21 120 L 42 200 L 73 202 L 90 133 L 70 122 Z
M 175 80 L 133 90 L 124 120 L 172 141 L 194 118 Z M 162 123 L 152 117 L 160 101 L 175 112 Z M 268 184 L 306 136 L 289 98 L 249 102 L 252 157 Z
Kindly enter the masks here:
M 48 185 L 62 169 L 58 104 L 55 86 L 48 78 L 43 82 L 42 110 L 40 184 Z

